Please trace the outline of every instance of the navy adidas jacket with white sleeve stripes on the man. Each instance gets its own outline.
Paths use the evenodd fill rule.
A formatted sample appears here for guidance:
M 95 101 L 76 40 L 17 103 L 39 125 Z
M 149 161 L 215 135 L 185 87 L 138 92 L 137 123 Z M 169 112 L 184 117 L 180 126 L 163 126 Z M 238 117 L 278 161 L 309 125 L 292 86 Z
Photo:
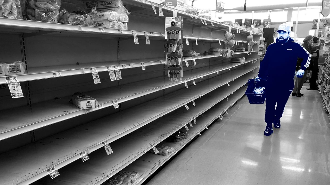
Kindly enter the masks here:
M 258 74 L 259 78 L 267 79 L 268 90 L 293 90 L 298 57 L 303 59 L 300 69 L 306 70 L 312 55 L 299 42 L 289 37 L 284 44 L 279 39 L 269 44 Z

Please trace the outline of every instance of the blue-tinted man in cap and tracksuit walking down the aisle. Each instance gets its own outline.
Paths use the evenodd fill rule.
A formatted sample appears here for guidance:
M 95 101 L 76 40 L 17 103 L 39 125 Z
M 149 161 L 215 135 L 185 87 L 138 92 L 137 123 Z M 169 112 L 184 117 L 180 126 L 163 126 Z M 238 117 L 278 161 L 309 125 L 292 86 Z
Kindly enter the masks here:
M 267 126 L 264 131 L 266 136 L 273 133 L 273 123 L 275 128 L 281 127 L 280 119 L 294 88 L 293 78 L 298 57 L 303 59 L 301 68 L 297 72 L 297 77 L 300 78 L 303 77 L 311 60 L 309 52 L 299 42 L 289 37 L 290 31 L 289 24 L 283 23 L 279 26 L 276 42 L 269 44 L 256 77 L 256 80 L 267 79 L 265 89 Z

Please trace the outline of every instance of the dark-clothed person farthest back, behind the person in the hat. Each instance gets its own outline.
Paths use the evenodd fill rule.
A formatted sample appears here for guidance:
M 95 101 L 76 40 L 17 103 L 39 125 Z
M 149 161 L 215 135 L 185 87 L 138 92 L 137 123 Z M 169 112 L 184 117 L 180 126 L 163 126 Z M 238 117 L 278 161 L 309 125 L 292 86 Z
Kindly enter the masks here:
M 317 79 L 317 74 L 318 74 L 318 50 L 320 48 L 320 45 L 317 45 L 317 37 L 313 37 L 313 44 L 309 46 L 310 50 L 311 50 L 311 54 L 312 54 L 312 59 L 311 59 L 311 65 L 309 66 L 310 69 L 312 70 L 312 76 L 310 78 L 310 87 L 306 88 L 307 90 L 316 90 L 317 89 L 317 85 L 316 85 L 316 79 Z M 313 55 L 317 54 L 317 55 Z

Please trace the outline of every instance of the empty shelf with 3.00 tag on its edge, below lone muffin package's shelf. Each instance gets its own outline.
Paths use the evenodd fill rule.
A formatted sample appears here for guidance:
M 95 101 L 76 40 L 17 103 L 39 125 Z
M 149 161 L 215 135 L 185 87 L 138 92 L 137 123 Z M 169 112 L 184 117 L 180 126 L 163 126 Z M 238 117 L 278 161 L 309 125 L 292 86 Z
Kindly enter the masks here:
M 192 86 L 189 89 L 182 89 L 167 94 L 136 107 L 121 111 L 121 113 L 97 119 L 40 142 L 3 153 L 0 155 L 0 158 L 10 158 L 11 160 L 3 161 L 2 163 L 0 169 L 4 177 L 2 180 L 6 182 L 5 185 L 11 184 L 13 179 L 17 179 L 17 183 L 15 181 L 16 184 L 29 184 L 34 182 L 47 176 L 47 169 L 50 167 L 55 166 L 56 169 L 61 169 L 79 159 L 79 153 L 82 151 L 88 149 L 89 152 L 92 152 L 92 155 L 94 153 L 93 151 L 103 147 L 102 142 L 104 141 L 108 141 L 108 143 L 113 146 L 111 144 L 113 141 L 141 128 L 151 121 L 171 113 L 184 104 L 188 104 L 192 100 L 199 98 L 201 95 L 210 93 L 223 85 L 227 86 L 227 82 L 235 86 L 234 84 L 237 84 L 237 81 L 231 82 L 232 80 L 250 73 L 250 71 L 257 67 L 258 65 L 252 64 L 244 66 L 242 69 L 232 70 L 223 75 L 211 78 L 210 80 L 197 83 L 196 86 Z M 245 81 L 247 81 L 247 79 L 245 79 Z M 201 101 L 204 101 L 203 96 Z M 192 109 L 192 105 L 189 107 Z M 33 147 L 31 147 L 31 145 L 33 145 Z M 105 152 L 102 149 L 100 151 Z M 106 155 L 106 153 L 104 154 Z M 28 160 L 20 160 L 22 157 Z M 27 172 L 30 174 L 27 174 Z M 23 179 L 23 176 L 26 179 Z

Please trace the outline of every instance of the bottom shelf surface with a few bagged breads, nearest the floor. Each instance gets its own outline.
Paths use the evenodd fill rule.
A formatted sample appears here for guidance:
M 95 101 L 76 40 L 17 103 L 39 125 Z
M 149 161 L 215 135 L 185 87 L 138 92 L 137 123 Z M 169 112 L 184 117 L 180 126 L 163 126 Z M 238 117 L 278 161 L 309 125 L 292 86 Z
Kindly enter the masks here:
M 138 160 L 131 163 L 129 166 L 124 168 L 124 170 L 130 171 L 135 170 L 140 173 L 139 179 L 137 179 L 132 185 L 140 185 L 142 184 L 147 178 L 155 172 L 159 167 L 161 167 L 166 161 L 172 158 L 176 152 L 180 151 L 185 145 L 187 145 L 194 137 L 199 135 L 206 127 L 208 127 L 212 122 L 218 119 L 219 114 L 225 114 L 225 111 L 229 111 L 231 106 L 235 104 L 237 101 L 244 96 L 246 88 L 243 86 L 239 88 L 237 91 L 234 92 L 233 95 L 229 95 L 229 101 L 222 100 L 214 107 L 203 113 L 203 116 L 197 118 L 197 124 L 193 125 L 192 128 L 189 128 L 188 137 L 180 143 L 165 143 L 162 142 L 164 145 L 169 145 L 174 148 L 175 152 L 167 156 L 162 155 L 154 155 L 152 153 L 146 153 L 141 156 Z

